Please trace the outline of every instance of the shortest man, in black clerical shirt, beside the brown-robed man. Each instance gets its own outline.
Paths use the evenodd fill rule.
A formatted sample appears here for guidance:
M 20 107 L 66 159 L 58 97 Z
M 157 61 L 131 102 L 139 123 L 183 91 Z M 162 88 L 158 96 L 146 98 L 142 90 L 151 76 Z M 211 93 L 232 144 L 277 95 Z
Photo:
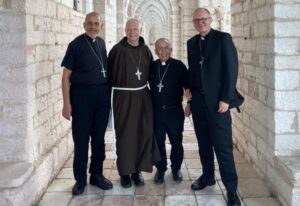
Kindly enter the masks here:
M 170 159 L 173 179 L 182 180 L 180 172 L 183 161 L 184 124 L 182 96 L 184 87 L 187 86 L 187 68 L 181 61 L 170 57 L 172 46 L 166 38 L 160 38 L 155 42 L 155 53 L 159 59 L 151 64 L 149 83 L 154 110 L 154 134 L 161 160 L 155 165 L 157 172 L 154 182 L 162 184 L 167 170 L 166 134 L 172 145 Z

